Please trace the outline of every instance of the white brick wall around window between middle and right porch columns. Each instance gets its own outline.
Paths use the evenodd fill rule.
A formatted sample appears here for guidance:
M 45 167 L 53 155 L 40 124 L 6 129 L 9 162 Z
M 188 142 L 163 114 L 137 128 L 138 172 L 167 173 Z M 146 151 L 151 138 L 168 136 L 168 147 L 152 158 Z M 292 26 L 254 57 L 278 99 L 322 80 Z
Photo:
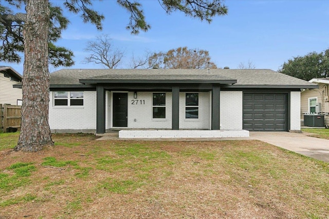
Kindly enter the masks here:
M 179 93 L 179 129 L 211 129 L 211 92 L 199 93 L 199 118 L 185 118 L 185 95 Z

